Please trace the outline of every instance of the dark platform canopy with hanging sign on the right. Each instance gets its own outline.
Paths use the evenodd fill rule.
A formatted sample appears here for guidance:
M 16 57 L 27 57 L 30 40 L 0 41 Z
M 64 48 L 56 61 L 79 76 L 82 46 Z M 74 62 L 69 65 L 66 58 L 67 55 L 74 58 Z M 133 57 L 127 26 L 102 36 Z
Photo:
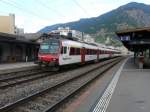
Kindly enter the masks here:
M 130 51 L 143 51 L 150 48 L 150 27 L 122 30 L 116 34 Z

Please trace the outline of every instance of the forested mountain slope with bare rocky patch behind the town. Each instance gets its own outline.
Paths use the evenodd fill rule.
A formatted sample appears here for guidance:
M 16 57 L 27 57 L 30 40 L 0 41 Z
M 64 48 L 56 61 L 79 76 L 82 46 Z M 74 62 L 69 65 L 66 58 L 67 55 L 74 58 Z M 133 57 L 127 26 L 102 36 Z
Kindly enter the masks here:
M 39 32 L 49 32 L 65 26 L 96 34 L 98 41 L 99 38 L 114 37 L 117 30 L 150 26 L 150 5 L 131 2 L 98 17 L 47 26 Z

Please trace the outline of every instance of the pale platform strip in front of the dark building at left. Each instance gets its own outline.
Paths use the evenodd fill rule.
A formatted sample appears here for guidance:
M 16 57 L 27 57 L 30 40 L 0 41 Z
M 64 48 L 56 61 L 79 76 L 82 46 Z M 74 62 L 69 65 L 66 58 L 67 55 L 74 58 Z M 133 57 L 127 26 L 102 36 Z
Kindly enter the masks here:
M 18 72 L 38 67 L 34 62 L 18 62 L 9 64 L 0 64 L 0 74 Z

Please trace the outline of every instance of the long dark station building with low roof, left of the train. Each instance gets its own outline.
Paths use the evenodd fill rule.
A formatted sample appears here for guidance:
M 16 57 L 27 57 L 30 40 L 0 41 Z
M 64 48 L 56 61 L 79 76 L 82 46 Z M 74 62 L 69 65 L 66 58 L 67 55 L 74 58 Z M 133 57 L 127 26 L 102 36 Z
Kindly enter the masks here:
M 0 33 L 0 63 L 34 61 L 39 44 L 23 36 Z

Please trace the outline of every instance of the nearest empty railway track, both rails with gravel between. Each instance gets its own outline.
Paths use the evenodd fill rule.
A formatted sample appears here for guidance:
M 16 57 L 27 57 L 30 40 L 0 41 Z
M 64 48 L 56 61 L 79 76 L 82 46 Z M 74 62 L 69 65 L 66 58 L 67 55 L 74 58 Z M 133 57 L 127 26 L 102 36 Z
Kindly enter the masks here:
M 59 83 L 47 87 L 41 91 L 19 99 L 0 108 L 0 111 L 11 112 L 48 112 L 53 111 L 69 96 L 75 94 L 87 83 L 98 77 L 101 73 L 118 63 L 121 58 L 104 62 L 91 70 L 87 70 L 76 76 L 66 78 Z

